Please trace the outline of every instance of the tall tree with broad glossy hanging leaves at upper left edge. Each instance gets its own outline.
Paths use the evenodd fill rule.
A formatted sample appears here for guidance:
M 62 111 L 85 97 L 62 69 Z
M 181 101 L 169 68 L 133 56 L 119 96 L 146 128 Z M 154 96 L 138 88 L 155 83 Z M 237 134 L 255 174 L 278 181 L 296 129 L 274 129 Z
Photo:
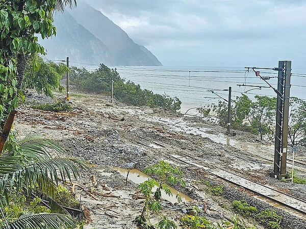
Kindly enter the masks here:
M 38 44 L 42 39 L 56 35 L 52 14 L 55 9 L 75 5 L 75 0 L 16 0 L 0 3 L 0 152 L 8 137 L 15 108 L 23 98 L 21 84 L 27 60 L 43 54 Z M 9 120 L 7 120 L 9 118 Z M 5 133 L 4 133 L 5 132 Z

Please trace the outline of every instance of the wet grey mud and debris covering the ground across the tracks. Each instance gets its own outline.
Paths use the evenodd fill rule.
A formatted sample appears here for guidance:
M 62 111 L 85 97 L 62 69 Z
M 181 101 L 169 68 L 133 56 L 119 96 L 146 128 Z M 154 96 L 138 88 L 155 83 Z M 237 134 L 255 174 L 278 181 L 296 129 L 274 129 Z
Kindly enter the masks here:
M 280 182 L 268 176 L 273 167 L 272 142 L 261 142 L 257 136 L 239 131 L 236 131 L 236 136 L 227 136 L 224 128 L 199 118 L 183 117 L 162 109 L 112 104 L 109 98 L 100 95 L 72 94 L 71 102 L 72 112 L 55 113 L 23 107 L 16 119 L 15 129 L 20 135 L 35 131 L 57 139 L 66 149 L 66 155 L 94 164 L 90 171 L 83 171 L 78 181 L 88 191 L 75 188 L 77 198 L 90 210 L 86 228 L 136 228 L 133 219 L 140 214 L 143 206 L 143 199 L 135 197 L 138 194 L 137 183 L 145 177 L 138 171 L 133 174 L 135 170 L 131 170 L 126 183 L 127 172 L 124 169 L 143 170 L 159 160 L 174 163 L 184 171 L 187 186 L 173 188 L 184 193 L 186 200 L 193 199 L 180 204 L 171 199 L 163 202 L 163 214 L 178 225 L 179 218 L 193 205 L 206 209 L 203 214 L 214 222 L 231 218 L 234 215 L 230 205 L 232 198 L 249 196 L 247 191 L 210 174 L 209 171 L 216 165 L 306 199 L 305 185 Z M 180 161 L 177 157 L 201 163 L 186 164 L 187 159 Z M 305 150 L 298 149 L 295 158 L 305 161 Z M 288 164 L 288 170 L 290 168 Z M 305 169 L 297 165 L 297 175 L 305 177 Z M 226 198 L 212 196 L 203 180 L 225 185 Z M 92 190 L 112 193 L 113 196 L 99 196 L 93 192 L 93 198 L 88 194 Z M 266 206 L 257 201 L 254 200 L 254 203 Z M 288 224 L 284 228 L 306 227 Z

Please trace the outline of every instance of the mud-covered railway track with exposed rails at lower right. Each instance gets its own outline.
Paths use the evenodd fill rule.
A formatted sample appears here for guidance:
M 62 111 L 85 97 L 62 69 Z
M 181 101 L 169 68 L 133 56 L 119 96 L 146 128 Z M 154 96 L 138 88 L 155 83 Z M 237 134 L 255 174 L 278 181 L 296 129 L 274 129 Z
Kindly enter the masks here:
M 208 173 L 221 178 L 222 180 L 232 183 L 238 187 L 243 187 L 245 190 L 249 190 L 255 193 L 258 199 L 265 201 L 275 208 L 285 210 L 299 218 L 306 220 L 306 201 L 303 199 L 296 198 L 292 195 L 277 191 L 271 187 L 262 185 L 258 182 L 251 181 L 240 175 L 234 174 L 230 171 L 214 166 L 213 169 L 206 166 L 195 163 L 194 161 L 182 157 L 179 155 L 169 155 L 174 160 L 180 161 L 181 163 L 188 164 L 190 166 L 198 167 L 199 169 L 206 170 Z M 201 159 L 201 161 L 203 161 Z M 203 161 L 204 162 L 204 161 Z M 206 162 L 209 164 L 209 162 Z M 267 201 L 268 200 L 268 201 Z

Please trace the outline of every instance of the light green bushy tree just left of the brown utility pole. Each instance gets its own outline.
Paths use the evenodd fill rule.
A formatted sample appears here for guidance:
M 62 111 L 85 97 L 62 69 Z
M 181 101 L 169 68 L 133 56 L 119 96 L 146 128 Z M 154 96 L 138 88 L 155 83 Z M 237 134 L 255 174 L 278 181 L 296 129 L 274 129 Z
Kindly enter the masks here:
M 62 76 L 68 71 L 64 64 L 44 62 L 40 56 L 34 56 L 27 65 L 22 81 L 22 90 L 35 89 L 39 94 L 54 97 L 53 90 L 62 91 Z

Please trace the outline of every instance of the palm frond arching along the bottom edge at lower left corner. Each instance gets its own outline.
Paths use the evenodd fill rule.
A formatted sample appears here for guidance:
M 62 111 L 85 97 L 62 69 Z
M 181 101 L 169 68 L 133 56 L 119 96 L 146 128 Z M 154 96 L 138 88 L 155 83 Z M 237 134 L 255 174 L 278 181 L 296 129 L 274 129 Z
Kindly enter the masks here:
M 69 229 L 77 224 L 68 215 L 58 213 L 28 213 L 21 215 L 15 221 L 2 228 L 4 229 Z

